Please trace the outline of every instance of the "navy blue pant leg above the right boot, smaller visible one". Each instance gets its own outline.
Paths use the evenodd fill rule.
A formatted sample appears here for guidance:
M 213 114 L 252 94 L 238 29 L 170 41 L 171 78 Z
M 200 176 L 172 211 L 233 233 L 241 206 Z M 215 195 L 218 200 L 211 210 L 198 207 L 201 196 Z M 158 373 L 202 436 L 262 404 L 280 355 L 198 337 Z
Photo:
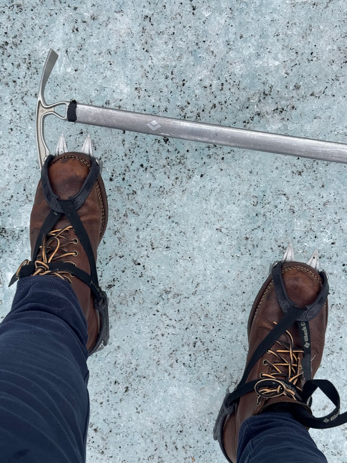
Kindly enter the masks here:
M 291 413 L 251 416 L 240 426 L 237 463 L 327 463 Z

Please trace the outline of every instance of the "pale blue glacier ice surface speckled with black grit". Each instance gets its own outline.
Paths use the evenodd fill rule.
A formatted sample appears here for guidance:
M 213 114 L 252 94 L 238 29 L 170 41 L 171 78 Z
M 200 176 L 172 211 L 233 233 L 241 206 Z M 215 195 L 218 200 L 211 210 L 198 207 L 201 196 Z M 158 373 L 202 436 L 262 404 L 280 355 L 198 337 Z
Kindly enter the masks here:
M 346 142 L 343 0 L 1 0 L 1 316 L 29 256 L 39 169 L 36 95 L 46 100 Z M 54 148 L 89 132 L 110 218 L 99 248 L 111 338 L 89 360 L 87 462 L 223 462 L 212 428 L 247 351 L 248 312 L 290 240 L 329 275 L 317 377 L 346 410 L 346 166 L 49 120 Z M 105 244 L 105 245 L 104 245 Z M 330 408 L 329 408 L 330 407 Z M 317 394 L 319 416 L 331 406 Z M 347 428 L 311 430 L 330 463 Z

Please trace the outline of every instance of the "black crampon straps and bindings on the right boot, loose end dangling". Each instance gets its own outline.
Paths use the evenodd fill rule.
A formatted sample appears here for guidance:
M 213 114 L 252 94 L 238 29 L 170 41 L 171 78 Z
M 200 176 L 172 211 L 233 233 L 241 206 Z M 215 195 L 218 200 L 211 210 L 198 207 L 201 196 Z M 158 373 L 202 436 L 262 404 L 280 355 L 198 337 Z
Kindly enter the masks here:
M 336 391 L 335 387 L 330 381 L 327 380 L 311 380 L 310 375 L 308 373 L 308 369 L 310 370 L 310 329 L 309 329 L 309 320 L 316 317 L 317 313 L 322 309 L 325 304 L 325 301 L 328 297 L 329 286 L 328 286 L 328 278 L 324 272 L 320 272 L 319 275 L 322 277 L 322 289 L 318 294 L 316 300 L 305 307 L 299 307 L 297 304 L 292 302 L 285 290 L 285 285 L 283 282 L 282 272 L 281 272 L 281 263 L 276 263 L 272 269 L 272 277 L 273 277 L 273 285 L 275 288 L 275 292 L 277 295 L 277 299 L 279 302 L 279 306 L 281 307 L 283 313 L 285 314 L 284 317 L 274 326 L 273 330 L 268 333 L 268 335 L 263 339 L 263 341 L 259 344 L 257 349 L 255 350 L 253 356 L 249 360 L 245 371 L 242 375 L 242 379 L 238 386 L 235 388 L 233 392 L 227 392 L 225 394 L 222 407 L 219 410 L 216 424 L 213 429 L 213 438 L 218 440 L 221 450 L 223 451 L 224 456 L 229 459 L 224 444 L 223 444 L 223 425 L 225 418 L 233 413 L 234 408 L 240 397 L 244 394 L 248 394 L 249 392 L 254 391 L 256 383 L 259 380 L 253 380 L 246 383 L 248 375 L 251 369 L 254 367 L 255 363 L 262 357 L 266 350 L 268 350 L 275 342 L 279 339 L 279 337 L 287 331 L 293 323 L 297 322 L 297 325 L 300 330 L 301 339 L 304 340 L 304 359 L 303 359 L 303 371 L 305 375 L 305 379 L 308 380 L 305 382 L 303 391 L 301 392 L 296 386 L 288 381 L 280 381 L 283 383 L 283 387 L 287 389 L 291 389 L 294 394 L 294 397 L 297 399 L 298 406 L 293 406 L 293 415 L 301 424 L 306 427 L 316 428 L 316 429 L 326 429 L 330 427 L 339 426 L 347 422 L 347 412 L 340 414 L 340 397 L 338 392 Z M 307 377 L 307 376 L 308 377 Z M 261 380 L 262 385 L 267 386 L 278 386 L 279 380 L 274 381 L 269 379 Z M 274 384 L 272 384 L 274 383 Z M 335 409 L 328 413 L 328 415 L 323 417 L 315 417 L 313 416 L 305 407 L 300 406 L 300 402 L 304 404 L 309 404 L 311 402 L 311 396 L 315 392 L 315 390 L 319 388 L 321 391 L 330 399 L 333 404 L 335 405 Z M 295 404 L 293 404 L 295 405 Z

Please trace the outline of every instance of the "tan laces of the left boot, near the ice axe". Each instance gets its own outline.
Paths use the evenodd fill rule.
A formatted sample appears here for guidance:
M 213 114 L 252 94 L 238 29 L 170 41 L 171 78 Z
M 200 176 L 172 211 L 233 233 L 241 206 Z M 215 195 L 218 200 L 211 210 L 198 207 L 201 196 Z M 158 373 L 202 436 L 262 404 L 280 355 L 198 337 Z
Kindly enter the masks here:
M 61 228 L 59 230 L 52 230 L 47 235 L 43 235 L 42 237 L 42 245 L 40 246 L 39 250 L 41 254 L 37 256 L 37 260 L 35 261 L 35 270 L 31 276 L 35 275 L 54 275 L 58 276 L 62 280 L 67 280 L 71 283 L 70 278 L 67 276 L 74 277 L 70 272 L 64 270 L 53 269 L 50 270 L 48 264 L 54 261 L 61 259 L 62 257 L 67 256 L 78 256 L 78 251 L 67 251 L 64 249 L 65 246 L 68 244 L 78 244 L 78 239 L 74 238 L 72 240 L 68 239 L 68 231 L 72 228 L 71 225 L 68 225 L 65 228 Z M 65 263 L 71 263 L 74 266 L 76 264 L 71 261 L 64 261 Z M 16 272 L 17 277 L 19 278 L 19 272 L 22 269 L 23 265 L 27 265 L 29 263 L 28 259 L 25 259 L 20 265 Z

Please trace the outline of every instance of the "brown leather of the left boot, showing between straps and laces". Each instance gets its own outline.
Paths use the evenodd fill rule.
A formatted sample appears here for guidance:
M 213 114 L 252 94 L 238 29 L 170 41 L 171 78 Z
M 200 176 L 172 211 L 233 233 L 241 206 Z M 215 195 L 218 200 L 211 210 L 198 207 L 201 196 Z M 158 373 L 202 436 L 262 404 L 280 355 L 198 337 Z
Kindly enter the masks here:
M 83 185 L 91 166 L 89 156 L 72 152 L 64 153 L 56 156 L 48 168 L 48 174 L 52 189 L 55 194 L 60 196 L 60 199 L 67 200 L 69 196 L 76 194 Z M 88 237 L 90 239 L 95 260 L 97 258 L 97 248 L 99 242 L 105 232 L 107 225 L 107 198 L 105 194 L 105 187 L 98 176 L 97 181 L 94 183 L 90 194 L 84 204 L 78 209 L 78 215 L 84 225 Z M 38 234 L 44 220 L 50 213 L 41 186 L 41 180 L 38 183 L 34 205 L 31 211 L 30 219 L 30 240 L 31 252 L 34 249 Z M 65 215 L 56 223 L 54 230 L 64 228 L 71 225 Z M 74 230 L 68 230 L 68 240 L 77 238 Z M 83 249 L 80 241 L 78 244 L 68 244 L 64 247 L 69 252 L 77 251 L 78 255 L 62 257 L 62 262 L 69 261 L 76 264 L 76 267 L 84 270 L 90 274 L 90 266 L 87 254 Z M 31 256 L 32 258 L 32 256 Z M 97 335 L 99 333 L 99 313 L 93 307 L 94 296 L 91 293 L 89 286 L 83 283 L 77 277 L 70 277 L 72 288 L 80 301 L 81 309 L 86 316 L 88 323 L 88 342 L 87 349 L 90 350 L 95 344 Z

